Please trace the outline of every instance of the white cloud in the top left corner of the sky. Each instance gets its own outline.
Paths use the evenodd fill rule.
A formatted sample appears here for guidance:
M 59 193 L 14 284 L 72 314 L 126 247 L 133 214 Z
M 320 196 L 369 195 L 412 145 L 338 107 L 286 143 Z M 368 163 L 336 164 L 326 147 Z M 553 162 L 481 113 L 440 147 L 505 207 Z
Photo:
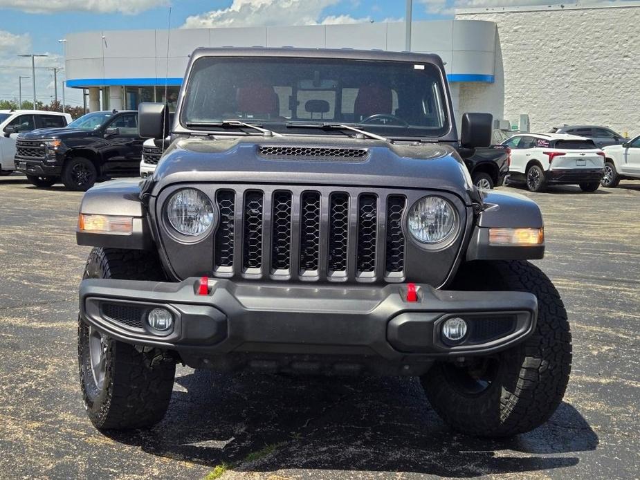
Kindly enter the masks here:
M 165 6 L 168 0 L 0 0 L 0 8 L 13 8 L 29 13 L 84 11 L 134 15 L 144 10 Z

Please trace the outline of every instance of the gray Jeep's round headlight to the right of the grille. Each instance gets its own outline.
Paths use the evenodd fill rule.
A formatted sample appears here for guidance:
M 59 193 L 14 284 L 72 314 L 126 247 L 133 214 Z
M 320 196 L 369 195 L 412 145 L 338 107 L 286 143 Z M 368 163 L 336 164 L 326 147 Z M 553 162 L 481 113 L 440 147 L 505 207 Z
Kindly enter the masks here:
M 439 196 L 425 196 L 409 210 L 407 225 L 418 241 L 438 243 L 455 230 L 455 210 Z

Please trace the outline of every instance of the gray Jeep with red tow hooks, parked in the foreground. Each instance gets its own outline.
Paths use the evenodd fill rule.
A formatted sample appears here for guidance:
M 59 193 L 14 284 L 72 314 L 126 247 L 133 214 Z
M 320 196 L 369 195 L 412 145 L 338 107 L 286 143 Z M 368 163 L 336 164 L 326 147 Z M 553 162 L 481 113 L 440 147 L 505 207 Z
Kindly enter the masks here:
M 572 360 L 556 288 L 529 259 L 536 203 L 478 190 L 436 55 L 197 49 L 156 172 L 84 194 L 78 356 L 101 430 L 163 418 L 194 369 L 418 377 L 452 428 L 547 421 Z M 469 153 L 470 152 L 470 153 Z

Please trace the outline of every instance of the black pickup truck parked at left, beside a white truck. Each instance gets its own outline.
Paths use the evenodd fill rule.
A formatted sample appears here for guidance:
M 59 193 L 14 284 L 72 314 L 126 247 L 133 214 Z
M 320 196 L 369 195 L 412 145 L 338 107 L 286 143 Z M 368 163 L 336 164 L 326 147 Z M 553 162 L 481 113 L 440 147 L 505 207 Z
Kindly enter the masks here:
M 84 191 L 106 178 L 137 176 L 143 142 L 137 111 L 95 111 L 65 128 L 21 133 L 15 165 L 38 187 L 62 181 Z

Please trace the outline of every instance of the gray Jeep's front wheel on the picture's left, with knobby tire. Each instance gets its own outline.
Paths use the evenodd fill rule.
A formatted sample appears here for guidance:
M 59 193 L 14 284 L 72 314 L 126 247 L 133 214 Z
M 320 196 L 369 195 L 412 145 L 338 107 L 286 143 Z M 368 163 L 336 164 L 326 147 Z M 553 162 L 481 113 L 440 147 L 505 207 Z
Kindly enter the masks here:
M 162 280 L 159 260 L 148 252 L 93 248 L 83 278 Z M 82 399 L 100 430 L 150 427 L 162 420 L 171 399 L 176 363 L 159 349 L 138 349 L 78 320 Z

